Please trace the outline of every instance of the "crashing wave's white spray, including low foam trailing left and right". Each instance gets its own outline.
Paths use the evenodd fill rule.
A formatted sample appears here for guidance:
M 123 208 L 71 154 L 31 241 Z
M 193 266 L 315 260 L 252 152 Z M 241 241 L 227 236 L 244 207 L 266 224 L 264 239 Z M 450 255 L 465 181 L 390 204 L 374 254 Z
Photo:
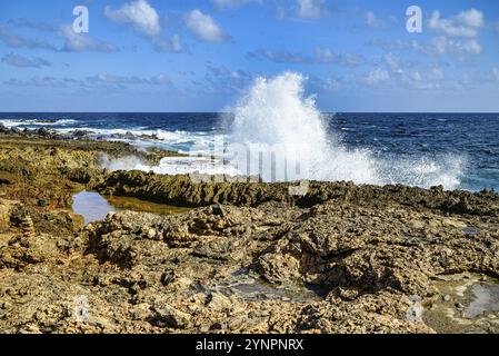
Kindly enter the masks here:
M 339 135 L 327 130 L 326 120 L 331 117 L 320 113 L 313 96 L 305 95 L 305 81 L 295 72 L 257 78 L 231 109 L 228 135 L 200 136 L 188 151 L 190 157 L 166 157 L 152 167 L 134 158 L 103 166 L 168 175 L 258 175 L 263 181 L 459 187 L 466 166 L 461 156 L 387 156 L 347 147 Z

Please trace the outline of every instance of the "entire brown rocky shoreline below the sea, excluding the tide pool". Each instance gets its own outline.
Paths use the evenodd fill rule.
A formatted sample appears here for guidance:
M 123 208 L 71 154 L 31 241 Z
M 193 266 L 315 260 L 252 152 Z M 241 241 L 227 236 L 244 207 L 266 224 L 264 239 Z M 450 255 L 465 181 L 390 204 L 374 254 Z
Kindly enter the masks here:
M 456 317 L 466 288 L 499 276 L 492 191 L 312 181 L 293 196 L 108 171 L 102 155 L 169 152 L 0 134 L 0 333 L 499 332 L 499 306 Z M 83 226 L 82 189 L 192 209 Z

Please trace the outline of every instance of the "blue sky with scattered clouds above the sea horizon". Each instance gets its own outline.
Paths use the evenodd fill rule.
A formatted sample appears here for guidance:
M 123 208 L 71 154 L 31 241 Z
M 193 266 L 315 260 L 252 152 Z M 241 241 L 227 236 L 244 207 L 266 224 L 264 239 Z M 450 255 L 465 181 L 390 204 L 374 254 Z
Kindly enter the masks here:
M 3 112 L 222 111 L 286 71 L 322 111 L 499 112 L 499 2 L 0 2 Z

